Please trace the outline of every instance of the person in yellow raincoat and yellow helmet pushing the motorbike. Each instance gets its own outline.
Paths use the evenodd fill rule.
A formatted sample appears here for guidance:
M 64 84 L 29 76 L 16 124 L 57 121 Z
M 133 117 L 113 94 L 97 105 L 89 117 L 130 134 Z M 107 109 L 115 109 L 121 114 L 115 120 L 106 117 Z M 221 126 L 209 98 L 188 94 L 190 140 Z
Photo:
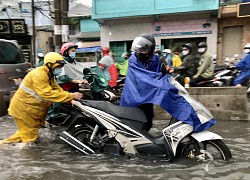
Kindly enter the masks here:
M 35 142 L 38 131 L 45 123 L 48 106 L 51 102 L 79 100 L 82 94 L 69 93 L 57 84 L 55 71 L 64 65 L 63 57 L 49 52 L 44 57 L 44 65 L 30 71 L 13 96 L 8 112 L 13 116 L 18 131 L 0 144 L 10 142 Z

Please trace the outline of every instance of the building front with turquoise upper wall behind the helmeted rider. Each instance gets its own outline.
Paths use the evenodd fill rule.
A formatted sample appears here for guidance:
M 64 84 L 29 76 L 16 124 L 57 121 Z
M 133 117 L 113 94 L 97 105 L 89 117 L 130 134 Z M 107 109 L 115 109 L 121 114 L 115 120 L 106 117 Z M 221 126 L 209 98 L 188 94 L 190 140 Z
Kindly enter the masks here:
M 101 24 L 101 45 L 110 47 L 117 61 L 143 33 L 154 35 L 156 49 L 206 41 L 217 54 L 218 9 L 219 0 L 93 0 L 92 19 Z

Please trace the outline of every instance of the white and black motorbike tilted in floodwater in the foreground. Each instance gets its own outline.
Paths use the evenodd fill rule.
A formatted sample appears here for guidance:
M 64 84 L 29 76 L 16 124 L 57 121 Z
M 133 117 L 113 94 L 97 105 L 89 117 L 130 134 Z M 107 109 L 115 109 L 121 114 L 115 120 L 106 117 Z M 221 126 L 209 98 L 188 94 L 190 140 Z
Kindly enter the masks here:
M 200 119 L 212 117 L 173 77 L 169 77 L 169 82 L 193 106 Z M 181 157 L 225 161 L 232 158 L 220 135 L 207 130 L 195 133 L 191 125 L 173 117 L 162 134 L 154 136 L 144 130 L 146 115 L 140 108 L 98 100 L 72 100 L 72 107 L 74 113 L 63 122 L 65 130 L 60 139 L 85 155 L 142 155 L 170 162 Z

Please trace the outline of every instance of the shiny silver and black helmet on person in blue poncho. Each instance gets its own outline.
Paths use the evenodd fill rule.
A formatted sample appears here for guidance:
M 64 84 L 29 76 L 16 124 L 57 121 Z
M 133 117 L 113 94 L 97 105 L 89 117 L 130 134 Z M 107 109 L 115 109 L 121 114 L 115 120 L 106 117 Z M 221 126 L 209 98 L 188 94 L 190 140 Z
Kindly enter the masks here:
M 155 50 L 155 38 L 151 34 L 141 34 L 134 39 L 131 50 L 152 56 Z

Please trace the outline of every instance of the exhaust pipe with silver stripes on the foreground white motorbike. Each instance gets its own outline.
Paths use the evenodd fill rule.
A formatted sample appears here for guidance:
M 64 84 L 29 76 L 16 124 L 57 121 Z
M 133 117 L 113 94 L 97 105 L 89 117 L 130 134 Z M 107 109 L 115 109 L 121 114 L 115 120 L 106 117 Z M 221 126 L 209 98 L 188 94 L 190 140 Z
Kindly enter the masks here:
M 94 150 L 92 150 L 87 145 L 83 144 L 81 141 L 79 141 L 78 139 L 76 139 L 75 137 L 67 133 L 66 131 L 63 131 L 60 134 L 60 139 L 62 139 L 63 141 L 65 141 L 66 143 L 68 143 L 69 145 L 73 146 L 74 148 L 83 152 L 86 155 L 95 153 Z

